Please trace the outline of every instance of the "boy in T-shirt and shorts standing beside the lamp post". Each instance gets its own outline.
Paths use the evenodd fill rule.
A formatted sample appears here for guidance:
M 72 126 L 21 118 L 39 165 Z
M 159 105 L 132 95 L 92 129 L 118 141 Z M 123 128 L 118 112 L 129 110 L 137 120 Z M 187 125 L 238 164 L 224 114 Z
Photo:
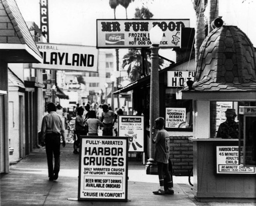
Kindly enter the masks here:
M 158 177 L 160 183 L 160 189 L 154 191 L 155 195 L 174 194 L 172 177 L 168 171 L 169 163 L 169 133 L 163 128 L 164 119 L 159 117 L 155 120 L 156 129 L 158 132 L 153 139 L 153 143 L 156 143 L 155 161 L 157 162 Z M 164 174 L 167 179 L 168 190 L 164 191 Z

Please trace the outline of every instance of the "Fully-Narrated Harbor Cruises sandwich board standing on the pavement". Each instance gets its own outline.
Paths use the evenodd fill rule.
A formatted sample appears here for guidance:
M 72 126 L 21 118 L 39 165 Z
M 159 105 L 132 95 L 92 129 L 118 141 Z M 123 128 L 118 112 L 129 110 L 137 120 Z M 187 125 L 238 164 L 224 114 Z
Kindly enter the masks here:
M 80 137 L 81 139 L 80 139 L 80 151 L 79 151 L 79 175 L 78 175 L 78 200 L 95 200 L 95 201 L 127 201 L 127 188 L 128 188 L 128 139 L 126 138 L 126 137 L 124 137 L 124 136 L 118 136 L 118 137 L 116 137 L 116 136 L 81 136 Z M 89 141 L 95 141 L 95 142 L 89 142 L 89 144 L 88 145 L 106 145 L 106 146 L 111 146 L 111 145 L 113 145 L 113 144 L 102 144 L 102 141 L 104 140 L 104 141 L 106 141 L 106 142 L 108 142 L 108 141 L 121 141 L 122 143 L 125 143 L 125 145 L 123 145 L 123 147 L 112 147 L 112 149 L 113 148 L 116 148 L 116 150 L 115 151 L 117 151 L 118 153 L 117 153 L 117 155 L 118 154 L 120 154 L 120 153 L 122 153 L 122 157 L 125 157 L 124 159 L 123 159 L 123 163 L 124 163 L 124 165 L 123 166 L 120 166 L 120 167 L 122 167 L 121 169 L 125 169 L 125 171 L 122 173 L 122 172 L 118 172 L 118 173 L 122 173 L 121 174 L 121 176 L 120 177 L 118 177 L 118 176 L 116 176 L 116 178 L 117 178 L 117 180 L 118 180 L 118 178 L 119 178 L 119 181 L 120 181 L 120 179 L 121 179 L 121 186 L 122 186 L 122 190 L 118 193 L 118 192 L 111 192 L 112 190 L 108 190 L 108 189 L 106 189 L 106 191 L 109 191 L 109 192 L 106 192 L 106 193 L 104 193 L 104 192 L 100 192 L 100 191 L 102 191 L 102 190 L 98 190 L 98 187 L 96 187 L 96 189 L 95 190 L 89 190 L 90 191 L 90 193 L 94 193 L 94 194 L 90 194 L 90 196 L 96 196 L 96 193 L 97 194 L 99 194 L 99 196 L 101 196 L 102 195 L 102 198 L 95 198 L 95 197 L 88 197 L 88 198 L 86 198 L 86 197 L 81 197 L 81 186 L 84 186 L 84 179 L 83 179 L 83 184 L 82 184 L 82 182 L 81 182 L 81 179 L 82 179 L 82 177 L 81 177 L 81 171 L 82 171 L 82 166 L 81 166 L 81 161 L 82 161 L 82 152 L 84 151 L 84 148 L 83 148 L 83 146 L 84 145 L 87 145 L 87 142 L 86 142 L 86 140 L 88 140 L 88 142 Z M 97 141 L 99 141 L 99 142 L 97 142 Z M 121 142 L 119 142 L 119 143 L 121 143 Z M 94 144 L 95 143 L 95 144 Z M 97 144 L 96 144 L 97 143 Z M 95 146 L 94 148 L 98 148 L 98 154 L 101 154 L 101 153 L 104 153 L 103 151 L 103 147 L 102 147 L 102 149 L 101 150 L 99 150 L 99 147 L 97 146 Z M 120 148 L 122 148 L 122 150 L 119 150 Z M 92 150 L 90 150 L 90 151 L 93 151 L 93 149 Z M 101 151 L 101 152 L 100 152 Z M 114 151 L 114 150 L 113 150 Z M 112 151 L 112 152 L 113 152 Z M 119 153 L 120 152 L 120 153 Z M 111 152 L 110 152 L 111 153 Z M 109 155 L 109 156 L 111 156 L 111 155 Z M 88 157 L 88 155 L 86 156 L 85 154 L 84 154 L 84 157 Z M 93 156 L 92 156 L 93 157 Z M 104 157 L 103 156 L 103 154 L 102 154 L 102 156 L 101 157 Z M 113 160 L 112 160 L 113 161 Z M 120 163 L 120 162 L 119 162 Z M 117 163 L 116 163 L 117 164 Z M 90 169 L 90 167 L 91 167 L 91 165 L 88 165 L 88 167 L 87 167 L 87 169 L 89 170 Z M 93 167 L 91 167 L 91 169 L 92 169 Z M 104 166 L 103 168 L 107 168 L 108 169 L 108 166 Z M 112 165 L 110 165 L 109 166 L 109 168 L 113 168 L 113 166 Z M 84 172 L 87 172 L 88 170 L 87 169 L 85 169 L 85 167 L 83 167 L 83 171 Z M 108 171 L 108 170 L 105 170 L 105 171 Z M 96 170 L 92 170 L 92 171 L 96 171 Z M 111 171 L 111 169 L 110 169 L 110 171 Z M 83 172 L 83 174 L 84 174 L 84 172 Z M 85 177 L 92 177 L 92 179 L 93 179 L 93 177 L 96 177 L 96 175 L 91 175 L 90 176 L 90 172 L 88 171 L 87 172 L 87 176 L 86 175 L 83 175 L 83 177 L 85 178 Z M 99 175 L 99 176 L 97 176 L 98 177 L 98 179 L 97 180 L 100 180 L 100 178 L 102 178 L 102 175 Z M 114 177 L 115 176 L 105 176 L 105 177 L 113 177 L 113 179 L 114 179 Z M 122 179 L 122 177 L 124 177 L 124 179 Z M 90 181 L 92 180 L 92 179 L 89 179 Z M 104 179 L 105 180 L 105 185 L 109 182 L 111 182 L 110 181 L 110 179 L 111 178 L 106 178 L 106 179 Z M 108 181 L 107 181 L 108 180 Z M 93 181 L 93 180 L 92 180 Z M 102 181 L 103 182 L 103 181 Z M 124 186 L 124 188 L 123 188 L 123 183 L 125 184 L 125 186 Z M 102 186 L 102 188 L 107 188 L 106 186 L 104 186 L 103 187 L 103 184 L 100 184 L 101 186 Z M 117 184 L 118 185 L 118 184 Z M 109 187 L 109 188 L 111 188 L 111 187 Z M 86 191 L 86 190 L 84 190 L 84 191 Z M 95 192 L 94 192 L 95 191 Z M 113 189 L 113 191 L 117 191 L 117 189 Z M 82 192 L 83 194 L 84 194 L 84 192 Z M 106 197 L 109 197 L 108 195 L 110 195 L 111 196 L 111 193 L 113 193 L 112 195 L 113 196 L 120 196 L 121 195 L 121 198 L 118 198 L 118 197 L 116 197 L 116 198 L 106 198 Z M 115 193 L 115 194 L 114 194 Z M 105 194 L 107 195 L 107 196 L 105 196 Z M 98 196 L 98 195 L 97 195 Z

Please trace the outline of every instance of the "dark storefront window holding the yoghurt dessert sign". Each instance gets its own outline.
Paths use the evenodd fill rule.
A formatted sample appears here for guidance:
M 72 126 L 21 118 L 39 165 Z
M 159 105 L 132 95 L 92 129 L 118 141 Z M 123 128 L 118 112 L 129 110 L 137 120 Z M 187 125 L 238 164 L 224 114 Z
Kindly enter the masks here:
M 175 94 L 165 94 L 165 129 L 193 131 L 192 100 L 177 100 Z

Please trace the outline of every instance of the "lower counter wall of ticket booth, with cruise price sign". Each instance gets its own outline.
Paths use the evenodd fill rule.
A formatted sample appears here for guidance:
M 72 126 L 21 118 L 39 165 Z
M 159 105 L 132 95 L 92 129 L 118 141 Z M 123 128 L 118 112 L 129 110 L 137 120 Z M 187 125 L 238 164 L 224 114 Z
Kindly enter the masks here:
M 193 141 L 194 148 L 193 193 L 198 200 L 255 200 L 255 167 L 243 167 L 239 164 L 239 139 L 189 140 Z

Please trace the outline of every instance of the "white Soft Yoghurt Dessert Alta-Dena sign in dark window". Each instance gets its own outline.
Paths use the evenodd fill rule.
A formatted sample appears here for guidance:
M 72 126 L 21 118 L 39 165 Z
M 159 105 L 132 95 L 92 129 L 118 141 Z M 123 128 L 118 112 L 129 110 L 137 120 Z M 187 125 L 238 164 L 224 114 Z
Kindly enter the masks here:
M 165 128 L 185 128 L 186 108 L 165 108 Z

